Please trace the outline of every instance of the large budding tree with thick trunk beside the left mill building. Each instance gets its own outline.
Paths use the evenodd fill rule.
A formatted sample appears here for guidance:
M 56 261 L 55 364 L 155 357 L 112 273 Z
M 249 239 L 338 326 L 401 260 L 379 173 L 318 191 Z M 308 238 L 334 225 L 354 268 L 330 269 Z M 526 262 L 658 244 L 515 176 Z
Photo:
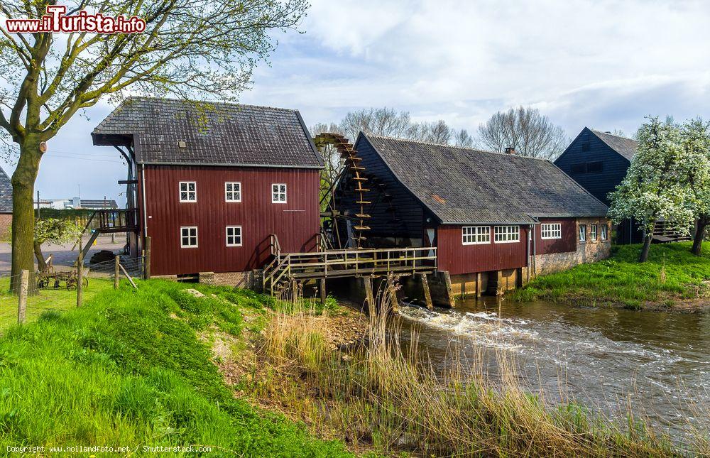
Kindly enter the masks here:
M 3 0 L 8 19 L 42 21 L 56 0 Z M 143 33 L 9 33 L 0 28 L 0 138 L 19 149 L 12 175 L 13 279 L 34 271 L 33 190 L 44 142 L 72 116 L 131 90 L 235 99 L 275 48 L 271 32 L 300 23 L 305 0 L 66 0 L 68 15 L 136 16 Z M 4 134 L 4 135 L 2 135 Z M 51 154 L 51 153 L 48 153 Z M 31 281 L 33 284 L 34 282 Z M 13 281 L 13 288 L 18 286 Z

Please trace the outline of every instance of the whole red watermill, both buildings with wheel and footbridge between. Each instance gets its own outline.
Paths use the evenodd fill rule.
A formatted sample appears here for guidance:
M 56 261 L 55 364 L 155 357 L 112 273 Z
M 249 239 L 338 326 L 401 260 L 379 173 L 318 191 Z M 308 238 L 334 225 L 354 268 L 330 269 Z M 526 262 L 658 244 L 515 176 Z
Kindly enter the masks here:
M 100 231 L 128 230 L 132 256 L 150 241 L 153 277 L 275 292 L 392 273 L 452 305 L 608 254 L 606 206 L 547 160 L 323 134 L 346 169 L 321 200 L 295 110 L 131 97 L 92 138 L 129 163 L 127 209 Z

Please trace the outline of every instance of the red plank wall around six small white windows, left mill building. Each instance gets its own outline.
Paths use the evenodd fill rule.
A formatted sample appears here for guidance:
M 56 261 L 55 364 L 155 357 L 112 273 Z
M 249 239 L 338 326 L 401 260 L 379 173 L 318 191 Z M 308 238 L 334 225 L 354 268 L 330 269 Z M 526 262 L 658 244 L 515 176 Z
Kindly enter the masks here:
M 153 275 L 261 268 L 269 234 L 284 252 L 316 249 L 318 170 L 146 165 L 145 174 Z M 197 182 L 197 202 L 180 202 L 180 181 Z M 241 182 L 241 202 L 224 201 L 225 182 Z M 271 203 L 272 183 L 287 185 L 287 203 Z M 197 248 L 180 247 L 182 226 L 197 226 Z M 242 246 L 226 246 L 227 226 L 241 226 Z

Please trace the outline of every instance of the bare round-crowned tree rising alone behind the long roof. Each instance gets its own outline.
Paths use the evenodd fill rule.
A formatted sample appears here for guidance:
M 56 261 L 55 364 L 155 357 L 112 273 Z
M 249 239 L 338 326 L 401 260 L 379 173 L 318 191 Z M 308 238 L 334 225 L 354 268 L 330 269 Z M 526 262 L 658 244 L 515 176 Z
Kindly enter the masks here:
M 555 159 L 569 143 L 562 127 L 530 107 L 498 111 L 479 126 L 479 143 L 502 153 L 513 147 L 521 156 Z

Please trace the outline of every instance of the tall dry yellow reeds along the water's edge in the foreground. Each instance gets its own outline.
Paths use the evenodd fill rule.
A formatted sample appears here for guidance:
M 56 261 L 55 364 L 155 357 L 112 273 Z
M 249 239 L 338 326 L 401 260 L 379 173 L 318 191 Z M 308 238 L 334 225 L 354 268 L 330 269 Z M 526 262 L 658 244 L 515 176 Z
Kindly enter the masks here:
M 373 317 L 370 339 L 349 354 L 329 349 L 324 332 L 309 310 L 273 316 L 249 391 L 354 447 L 452 457 L 710 453 L 707 432 L 697 432 L 681 449 L 624 405 L 623 420 L 581 405 L 550 405 L 544 393 L 520 386 L 515 361 L 506 354 L 498 354 L 501 380 L 494 383 L 480 359 L 454 357 L 444 374 L 437 373 L 420 359 L 416 337 L 414 344 L 400 344 L 396 325 L 384 317 Z

